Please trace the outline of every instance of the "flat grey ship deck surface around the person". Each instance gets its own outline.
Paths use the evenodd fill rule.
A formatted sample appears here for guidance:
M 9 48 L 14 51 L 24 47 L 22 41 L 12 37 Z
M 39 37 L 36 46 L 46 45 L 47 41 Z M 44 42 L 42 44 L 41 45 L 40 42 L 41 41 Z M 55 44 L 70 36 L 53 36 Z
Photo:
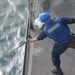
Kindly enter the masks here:
M 52 13 L 54 17 L 73 17 L 75 18 L 75 0 L 34 0 L 33 11 L 35 17 L 43 11 Z M 75 33 L 75 24 L 70 25 L 71 31 Z M 34 32 L 34 35 L 39 33 Z M 36 48 L 43 48 L 43 52 L 36 50 Z M 51 72 L 52 60 L 51 51 L 53 41 L 49 38 L 43 41 L 34 42 L 33 59 L 31 75 L 54 75 Z M 40 52 L 40 54 L 39 54 Z M 61 55 L 61 68 L 64 75 L 75 75 L 75 50 L 69 48 Z

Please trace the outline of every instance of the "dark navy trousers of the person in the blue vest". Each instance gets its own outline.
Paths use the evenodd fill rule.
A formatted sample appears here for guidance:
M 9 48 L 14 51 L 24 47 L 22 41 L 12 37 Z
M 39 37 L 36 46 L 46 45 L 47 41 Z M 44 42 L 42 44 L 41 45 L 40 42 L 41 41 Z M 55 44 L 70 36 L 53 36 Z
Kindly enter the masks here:
M 70 40 L 68 40 L 64 44 L 55 43 L 53 50 L 52 50 L 52 62 L 53 65 L 57 68 L 60 67 L 61 61 L 60 61 L 60 55 L 64 53 L 70 46 L 70 42 L 72 39 L 75 39 L 75 36 L 73 36 Z

